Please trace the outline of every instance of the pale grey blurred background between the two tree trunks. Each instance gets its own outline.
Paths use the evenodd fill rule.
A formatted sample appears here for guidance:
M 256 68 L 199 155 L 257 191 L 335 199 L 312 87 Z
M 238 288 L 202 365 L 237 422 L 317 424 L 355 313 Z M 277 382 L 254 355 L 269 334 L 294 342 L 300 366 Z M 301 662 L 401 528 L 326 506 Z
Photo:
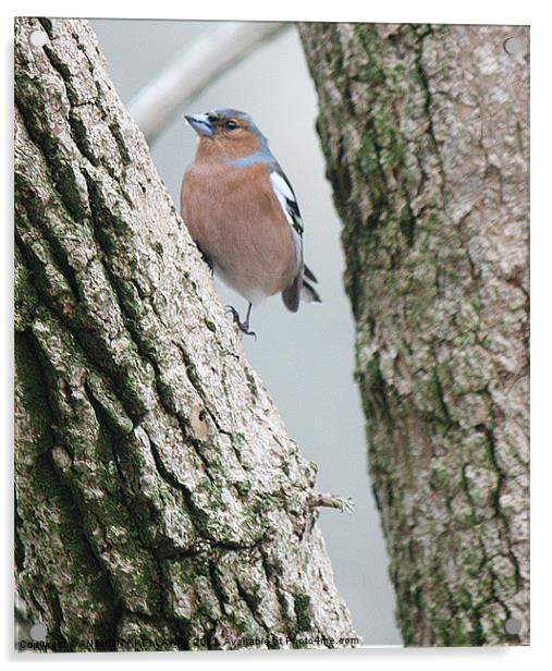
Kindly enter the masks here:
M 125 103 L 214 22 L 93 20 L 111 77 Z M 220 24 L 219 24 L 220 25 Z M 364 417 L 353 380 L 354 324 L 343 290 L 340 221 L 315 132 L 316 93 L 293 25 L 210 84 L 167 125 L 151 146 L 161 179 L 177 205 L 195 136 L 182 113 L 232 107 L 252 114 L 293 184 L 305 223 L 305 258 L 320 282 L 321 305 L 295 315 L 280 297 L 253 312 L 258 340 L 245 349 L 290 435 L 319 464 L 321 491 L 352 497 L 353 515 L 321 510 L 319 525 L 338 587 L 365 645 L 401 643 L 394 593 L 366 465 Z M 245 300 L 218 284 L 224 303 Z

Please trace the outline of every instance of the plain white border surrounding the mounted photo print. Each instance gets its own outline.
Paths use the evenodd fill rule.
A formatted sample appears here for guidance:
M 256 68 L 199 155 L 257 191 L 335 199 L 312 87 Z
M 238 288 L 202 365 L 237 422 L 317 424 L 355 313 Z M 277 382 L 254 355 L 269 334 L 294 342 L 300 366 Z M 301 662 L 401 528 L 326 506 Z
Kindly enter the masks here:
M 532 575 L 532 640 L 531 648 L 516 649 L 462 649 L 462 650 L 356 650 L 356 651 L 340 651 L 340 652 L 320 652 L 320 651 L 298 651 L 298 652 L 235 652 L 220 656 L 218 654 L 196 654 L 194 658 L 189 654 L 150 654 L 140 655 L 121 655 L 116 657 L 111 655 L 94 655 L 94 656 L 37 656 L 33 658 L 34 663 L 48 663 L 49 661 L 71 661 L 75 663 L 76 659 L 87 660 L 93 663 L 109 663 L 108 660 L 116 660 L 118 664 L 134 663 L 146 661 L 154 663 L 155 660 L 163 662 L 193 663 L 199 661 L 209 663 L 209 660 L 216 660 L 218 663 L 295 663 L 315 662 L 319 663 L 376 663 L 379 666 L 385 664 L 394 668 L 395 666 L 414 666 L 414 668 L 426 668 L 427 664 L 434 663 L 442 666 L 445 663 L 451 668 L 459 668 L 466 664 L 476 666 L 477 668 L 484 664 L 486 668 L 496 664 L 501 668 L 513 668 L 523 664 L 535 664 L 540 667 L 540 661 L 547 655 L 545 644 L 548 642 L 549 629 L 549 581 L 548 573 L 550 566 L 550 538 L 548 535 L 549 525 L 547 523 L 547 512 L 550 505 L 549 501 L 543 499 L 543 493 L 549 488 L 550 468 L 550 431 L 547 427 L 547 415 L 549 413 L 548 403 L 548 380 L 550 379 L 550 356 L 548 338 L 550 331 L 549 326 L 549 302 L 547 302 L 550 291 L 550 274 L 547 273 L 547 268 L 550 266 L 550 205 L 548 203 L 548 191 L 550 190 L 550 84 L 549 84 L 549 63 L 551 62 L 549 45 L 551 25 L 542 4 L 538 2 L 526 1 L 518 2 L 501 2 L 495 5 L 490 3 L 483 5 L 481 2 L 464 1 L 455 7 L 443 7 L 437 2 L 401 2 L 395 0 L 392 4 L 369 7 L 368 3 L 340 2 L 339 7 L 334 3 L 326 7 L 318 7 L 316 12 L 300 9 L 297 2 L 285 2 L 281 0 L 278 5 L 270 4 L 265 8 L 260 3 L 243 1 L 240 4 L 230 4 L 228 2 L 212 1 L 205 4 L 194 3 L 191 5 L 184 3 L 164 3 L 157 2 L 155 7 L 149 5 L 124 5 L 123 3 L 111 2 L 95 2 L 91 3 L 75 3 L 70 2 L 26 2 L 11 3 L 5 5 L 4 21 L 2 29 L 4 32 L 3 54 L 7 56 L 2 74 L 4 76 L 3 100 L 4 119 L 2 124 L 5 143 L 3 146 L 8 150 L 3 154 L 2 170 L 3 184 L 5 185 L 7 198 L 4 198 L 4 231 L 7 231 L 5 242 L 2 245 L 4 253 L 4 263 L 2 268 L 5 269 L 4 282 L 2 292 L 4 315 L 5 315 L 5 333 L 4 333 L 4 356 L 3 380 L 4 386 L 3 403 L 1 403 L 2 412 L 4 412 L 3 426 L 5 427 L 5 441 L 8 447 L 12 441 L 12 334 L 11 334 L 11 265 L 12 265 L 12 246 L 11 246 L 11 222 L 12 222 L 12 178 L 13 169 L 12 152 L 10 148 L 12 126 L 11 126 L 11 40 L 12 40 L 12 19 L 13 14 L 39 14 L 39 15 L 74 15 L 76 11 L 81 15 L 95 16 L 130 16 L 135 17 L 186 17 L 186 19 L 223 19 L 223 20 L 334 20 L 334 21 L 375 21 L 382 23 L 393 22 L 450 22 L 450 23 L 530 23 L 531 25 L 531 127 L 533 139 L 533 150 L 531 158 L 531 294 L 533 301 L 532 309 L 532 338 L 531 338 L 531 356 L 537 365 L 532 367 L 531 395 L 532 395 L 532 509 L 531 509 L 531 530 L 532 530 L 532 553 L 531 553 L 531 575 Z M 268 134 L 268 133 L 267 133 Z M 548 225 L 547 225 L 548 224 Z M 277 399 L 278 401 L 278 399 Z M 548 461 L 547 461 L 548 459 Z M 8 542 L 4 544 L 4 560 L 5 572 L 4 580 L 1 582 L 3 588 L 2 609 L 5 614 L 2 625 L 2 640 L 4 643 L 5 655 L 12 660 L 25 662 L 26 656 L 10 655 L 10 649 L 13 640 L 11 632 L 12 612 L 11 602 L 13 595 L 12 582 L 12 515 L 11 515 L 11 497 L 12 497 L 12 453 L 5 450 L 5 507 L 8 511 L 8 520 L 5 521 L 4 529 Z M 541 495 L 540 501 L 537 498 Z M 540 530 L 539 530 L 540 527 Z M 132 661 L 126 661 L 126 660 Z M 538 666 L 537 666 L 538 664 Z

